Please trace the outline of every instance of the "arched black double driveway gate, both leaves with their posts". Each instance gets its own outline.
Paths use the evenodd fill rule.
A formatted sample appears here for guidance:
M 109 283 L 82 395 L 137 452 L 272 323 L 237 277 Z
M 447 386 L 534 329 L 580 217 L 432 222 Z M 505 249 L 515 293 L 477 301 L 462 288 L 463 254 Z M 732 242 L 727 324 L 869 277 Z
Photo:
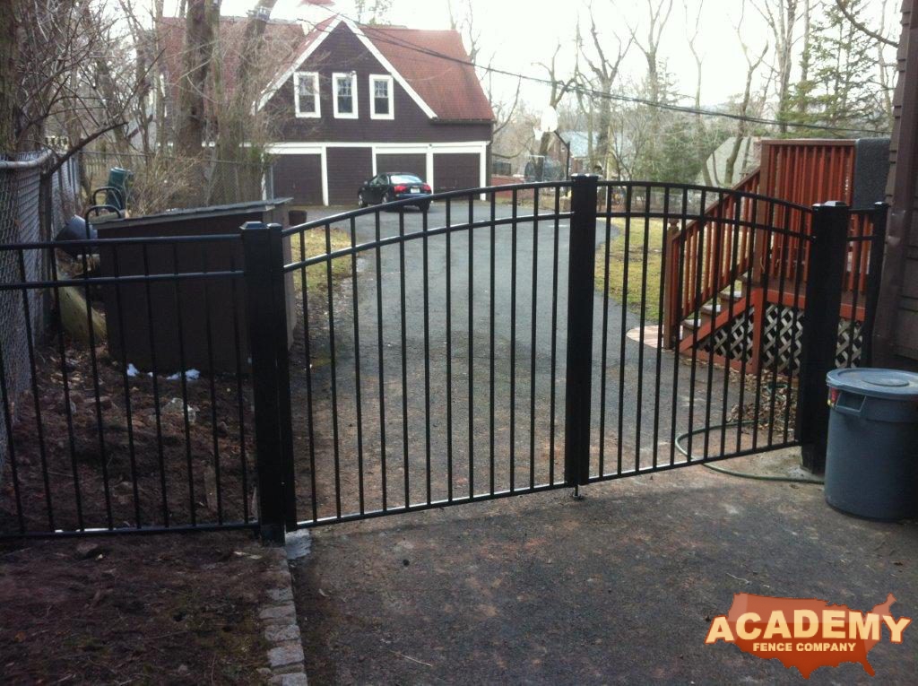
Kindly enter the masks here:
M 731 194 L 732 216 L 705 218 Z M 269 439 L 259 454 L 280 455 L 260 467 L 269 537 L 791 445 L 824 450 L 840 306 L 828 286 L 841 283 L 847 208 L 586 175 L 432 199 L 429 214 L 404 200 L 244 232 L 274 236 L 275 265 L 281 241 L 294 246 L 293 261 L 265 275 L 274 325 L 252 342 L 256 378 L 273 378 L 276 393 L 265 412 L 256 406 Z M 717 249 L 696 244 L 697 264 L 683 264 L 685 244 L 667 254 L 667 236 L 692 220 L 713 224 L 700 241 L 716 236 Z M 772 254 L 778 243 L 798 249 Z M 750 283 L 756 255 L 790 265 L 772 287 L 792 294 L 795 313 L 806 299 L 791 330 L 802 331 L 800 370 L 747 368 L 742 345 L 723 365 L 703 345 L 666 350 L 667 261 L 679 261 L 680 297 L 683 269 Z M 298 339 L 287 354 L 275 334 L 291 276 Z M 734 307 L 733 287 L 722 298 L 715 332 L 763 315 Z

